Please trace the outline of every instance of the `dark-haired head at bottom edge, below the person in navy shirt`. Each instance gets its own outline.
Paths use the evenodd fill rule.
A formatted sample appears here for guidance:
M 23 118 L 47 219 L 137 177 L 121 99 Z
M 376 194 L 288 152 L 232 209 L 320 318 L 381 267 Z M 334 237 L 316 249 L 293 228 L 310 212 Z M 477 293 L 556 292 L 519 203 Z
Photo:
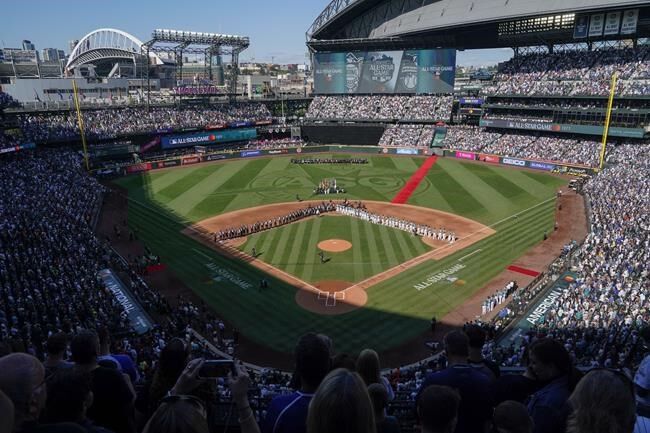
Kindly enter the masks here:
M 422 431 L 426 433 L 451 433 L 458 422 L 460 395 L 448 386 L 430 385 L 417 402 Z

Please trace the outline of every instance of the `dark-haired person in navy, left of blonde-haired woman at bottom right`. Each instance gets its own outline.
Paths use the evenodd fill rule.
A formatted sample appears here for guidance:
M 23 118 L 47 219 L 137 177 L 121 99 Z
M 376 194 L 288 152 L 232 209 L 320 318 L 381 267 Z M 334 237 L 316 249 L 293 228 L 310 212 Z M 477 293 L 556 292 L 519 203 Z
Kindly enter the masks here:
M 569 413 L 567 400 L 580 373 L 572 366 L 564 346 L 550 338 L 530 345 L 528 368 L 535 379 L 547 384 L 528 402 L 535 433 L 563 432 Z

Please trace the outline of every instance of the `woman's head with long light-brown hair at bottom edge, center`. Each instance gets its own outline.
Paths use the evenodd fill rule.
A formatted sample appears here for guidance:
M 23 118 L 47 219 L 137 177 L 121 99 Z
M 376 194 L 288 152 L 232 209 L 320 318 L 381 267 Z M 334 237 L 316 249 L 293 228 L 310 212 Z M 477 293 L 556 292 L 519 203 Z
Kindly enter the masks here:
M 344 368 L 329 373 L 309 404 L 307 433 L 374 433 L 375 416 L 363 379 Z

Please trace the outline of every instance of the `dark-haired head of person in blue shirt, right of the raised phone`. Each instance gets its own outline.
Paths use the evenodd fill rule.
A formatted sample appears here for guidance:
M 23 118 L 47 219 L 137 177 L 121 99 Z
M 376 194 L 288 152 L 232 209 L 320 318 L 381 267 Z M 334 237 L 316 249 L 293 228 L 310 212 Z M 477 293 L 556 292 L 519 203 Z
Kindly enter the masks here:
M 308 333 L 296 345 L 296 373 L 302 386 L 317 388 L 330 370 L 330 351 L 325 340 Z

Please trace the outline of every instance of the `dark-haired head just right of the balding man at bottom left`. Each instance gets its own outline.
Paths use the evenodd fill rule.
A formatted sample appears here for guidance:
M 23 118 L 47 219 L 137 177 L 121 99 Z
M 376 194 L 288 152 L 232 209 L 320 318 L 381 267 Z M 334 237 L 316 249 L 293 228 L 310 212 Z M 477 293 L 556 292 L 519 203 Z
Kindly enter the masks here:
M 92 405 L 93 394 L 88 373 L 60 370 L 47 383 L 48 422 L 80 422 Z

